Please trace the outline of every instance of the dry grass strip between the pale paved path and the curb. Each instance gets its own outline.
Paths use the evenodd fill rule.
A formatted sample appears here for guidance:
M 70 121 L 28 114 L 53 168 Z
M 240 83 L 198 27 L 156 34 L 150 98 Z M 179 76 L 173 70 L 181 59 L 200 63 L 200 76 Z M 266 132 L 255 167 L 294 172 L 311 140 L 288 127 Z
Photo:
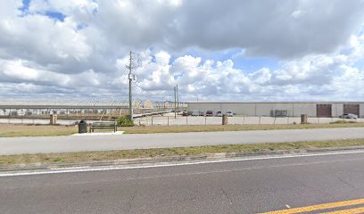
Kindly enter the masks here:
M 332 141 L 303 141 L 294 143 L 269 144 L 222 144 L 209 146 L 137 149 L 103 152 L 69 152 L 48 154 L 21 154 L 0 156 L 0 167 L 12 165 L 29 165 L 35 163 L 82 163 L 97 161 L 117 161 L 136 158 L 174 157 L 186 155 L 201 155 L 221 152 L 265 152 L 279 150 L 318 149 L 329 147 L 345 147 L 364 145 L 364 139 L 332 140 Z

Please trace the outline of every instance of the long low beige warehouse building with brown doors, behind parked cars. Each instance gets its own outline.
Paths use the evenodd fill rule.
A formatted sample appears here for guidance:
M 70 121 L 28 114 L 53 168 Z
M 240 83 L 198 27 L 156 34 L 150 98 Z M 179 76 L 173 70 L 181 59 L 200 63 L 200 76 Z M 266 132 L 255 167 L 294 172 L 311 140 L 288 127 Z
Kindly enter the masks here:
M 345 113 L 352 113 L 364 118 L 364 102 L 267 102 L 267 103 L 187 103 L 187 111 L 232 111 L 237 115 L 247 116 L 288 116 L 331 118 Z

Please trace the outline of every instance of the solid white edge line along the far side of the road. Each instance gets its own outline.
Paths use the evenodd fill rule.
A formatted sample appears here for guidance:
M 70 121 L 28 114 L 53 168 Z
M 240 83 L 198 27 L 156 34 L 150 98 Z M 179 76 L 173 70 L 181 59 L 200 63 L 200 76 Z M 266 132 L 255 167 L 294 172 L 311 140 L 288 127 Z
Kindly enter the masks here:
M 291 154 L 281 156 L 265 156 L 265 157 L 252 157 L 252 158 L 239 158 L 239 159 L 227 159 L 217 161 L 196 161 L 196 162 L 178 162 L 178 163 L 162 163 L 155 165 L 139 165 L 139 166 L 124 166 L 124 167 L 73 167 L 73 168 L 59 168 L 59 169 L 45 169 L 41 171 L 19 171 L 11 173 L 0 173 L 0 177 L 15 177 L 15 176 L 30 176 L 30 175 L 46 175 L 46 174 L 58 174 L 58 173 L 70 173 L 70 172 L 91 172 L 91 171 L 108 171 L 108 170 L 120 170 L 120 169 L 150 169 L 150 168 L 161 168 L 161 167 L 178 167 L 208 163 L 221 163 L 221 162 L 233 162 L 233 161 L 258 161 L 258 160 L 269 160 L 269 159 L 286 159 L 286 158 L 302 158 L 302 157 L 314 157 L 314 156 L 328 156 L 328 155 L 339 155 L 339 154 L 353 154 L 353 153 L 364 153 L 362 151 L 350 151 L 350 152 L 324 152 L 324 153 L 310 153 L 310 154 Z

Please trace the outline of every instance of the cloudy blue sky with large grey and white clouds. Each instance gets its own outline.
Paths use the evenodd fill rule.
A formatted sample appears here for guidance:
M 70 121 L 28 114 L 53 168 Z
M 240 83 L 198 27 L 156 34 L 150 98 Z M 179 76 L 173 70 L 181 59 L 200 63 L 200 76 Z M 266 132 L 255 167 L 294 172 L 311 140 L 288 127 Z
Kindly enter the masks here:
M 0 99 L 363 101 L 363 0 L 0 0 Z

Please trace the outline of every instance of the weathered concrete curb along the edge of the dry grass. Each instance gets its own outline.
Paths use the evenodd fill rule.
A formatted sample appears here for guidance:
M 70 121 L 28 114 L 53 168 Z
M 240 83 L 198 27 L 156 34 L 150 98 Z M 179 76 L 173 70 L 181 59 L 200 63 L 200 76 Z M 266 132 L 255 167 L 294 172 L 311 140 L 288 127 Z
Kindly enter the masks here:
M 337 152 L 337 151 L 353 151 L 364 150 L 364 146 L 348 146 L 348 147 L 331 147 L 319 149 L 303 149 L 303 150 L 280 150 L 280 151 L 264 151 L 264 152 L 228 152 L 228 153 L 208 153 L 193 156 L 172 156 L 172 157 L 156 157 L 156 158 L 137 158 L 116 161 L 97 161 L 97 162 L 80 162 L 80 163 L 58 163 L 58 164 L 21 164 L 11 167 L 0 167 L 0 174 L 13 171 L 33 171 L 45 169 L 70 169 L 78 167 L 106 167 L 106 166 L 133 166 L 142 164 L 155 164 L 166 162 L 186 162 L 186 161 L 218 161 L 235 158 L 265 156 L 265 155 L 287 155 L 287 154 L 305 154 L 314 152 Z

